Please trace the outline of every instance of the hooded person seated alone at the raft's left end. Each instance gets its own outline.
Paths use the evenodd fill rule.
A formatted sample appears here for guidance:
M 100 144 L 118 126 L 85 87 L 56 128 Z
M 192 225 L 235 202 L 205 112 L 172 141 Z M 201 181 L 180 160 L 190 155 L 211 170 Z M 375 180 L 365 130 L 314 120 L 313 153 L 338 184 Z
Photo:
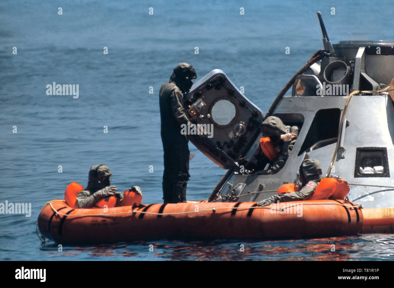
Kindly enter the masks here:
M 100 199 L 109 196 L 115 196 L 115 205 L 119 206 L 124 195 L 121 192 L 116 192 L 118 190 L 116 186 L 111 185 L 111 175 L 110 168 L 103 164 L 92 166 L 89 170 L 86 188 L 76 196 L 78 208 L 90 208 Z M 132 186 L 130 191 L 137 191 L 142 194 L 141 188 L 138 186 Z

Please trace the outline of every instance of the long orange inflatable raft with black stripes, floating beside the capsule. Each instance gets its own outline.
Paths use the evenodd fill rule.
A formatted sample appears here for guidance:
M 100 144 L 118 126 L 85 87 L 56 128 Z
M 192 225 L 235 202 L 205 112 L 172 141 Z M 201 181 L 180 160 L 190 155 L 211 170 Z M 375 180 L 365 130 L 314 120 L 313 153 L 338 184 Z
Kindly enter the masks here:
M 43 236 L 56 243 L 82 244 L 350 235 L 359 233 L 364 221 L 359 206 L 344 200 L 281 202 L 266 207 L 256 202 L 140 202 L 140 195 L 132 191 L 125 192 L 119 207 L 102 203 L 103 208 L 76 209 L 75 203 L 52 200 L 44 205 L 37 225 Z

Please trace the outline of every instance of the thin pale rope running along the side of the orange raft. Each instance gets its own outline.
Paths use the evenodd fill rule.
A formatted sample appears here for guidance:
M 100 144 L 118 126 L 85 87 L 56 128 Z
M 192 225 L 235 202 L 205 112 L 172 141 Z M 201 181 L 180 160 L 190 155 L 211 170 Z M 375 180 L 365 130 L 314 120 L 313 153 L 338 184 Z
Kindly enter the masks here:
M 63 200 L 52 200 L 52 201 L 63 201 Z M 52 206 L 52 201 L 49 201 L 46 204 L 49 204 L 52 211 L 54 211 L 54 213 L 56 213 L 56 215 L 63 215 L 63 216 L 112 216 L 112 215 L 122 215 L 122 214 L 130 214 L 130 213 L 141 213 L 141 214 L 152 214 L 152 215 L 179 215 L 179 214 L 188 214 L 188 213 L 199 213 L 199 212 L 206 212 L 206 211 L 212 211 L 212 212 L 216 212 L 216 210 L 221 210 L 221 209 L 236 209 L 236 210 L 249 210 L 249 209 L 276 209 L 277 211 L 284 211 L 284 209 L 288 209 L 290 207 L 294 207 L 299 205 L 300 203 L 296 203 L 293 205 L 288 205 L 288 206 L 283 206 L 283 207 L 269 207 L 269 206 L 256 206 L 256 207 L 218 207 L 218 208 L 211 208 L 211 209 L 203 209 L 203 210 L 198 210 L 198 211 L 186 211 L 186 212 L 172 212 L 172 213 L 154 213 L 154 212 L 143 212 L 143 211 L 138 211 L 138 210 L 133 210 L 133 211 L 129 211 L 129 212 L 118 212 L 118 213 L 105 213 L 105 214 L 64 214 L 61 213 L 59 211 L 57 211 L 53 206 Z M 347 207 L 349 209 L 354 208 L 354 209 L 362 209 L 362 205 L 361 204 L 357 204 L 357 205 L 344 205 L 342 203 L 301 203 L 303 205 L 340 205 L 343 207 Z M 44 205 L 44 207 L 45 207 Z

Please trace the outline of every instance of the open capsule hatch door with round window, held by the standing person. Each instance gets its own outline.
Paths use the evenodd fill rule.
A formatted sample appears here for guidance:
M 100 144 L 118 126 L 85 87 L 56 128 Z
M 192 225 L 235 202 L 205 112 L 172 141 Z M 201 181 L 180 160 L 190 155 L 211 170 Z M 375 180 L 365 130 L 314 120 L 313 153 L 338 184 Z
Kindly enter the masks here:
M 190 141 L 222 168 L 230 169 L 245 161 L 260 132 L 261 110 L 218 69 L 194 83 L 186 99 L 193 120 L 184 132 Z

